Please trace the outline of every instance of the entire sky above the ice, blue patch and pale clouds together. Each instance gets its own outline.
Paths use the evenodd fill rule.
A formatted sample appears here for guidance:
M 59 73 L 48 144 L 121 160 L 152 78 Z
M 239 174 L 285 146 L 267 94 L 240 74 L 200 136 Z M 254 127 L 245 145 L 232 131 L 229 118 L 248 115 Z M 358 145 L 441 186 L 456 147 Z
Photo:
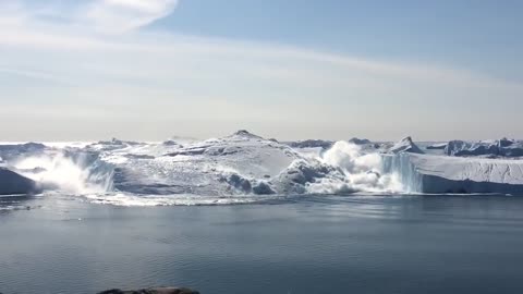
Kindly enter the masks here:
M 508 0 L 0 2 L 0 133 L 523 137 L 522 12 Z

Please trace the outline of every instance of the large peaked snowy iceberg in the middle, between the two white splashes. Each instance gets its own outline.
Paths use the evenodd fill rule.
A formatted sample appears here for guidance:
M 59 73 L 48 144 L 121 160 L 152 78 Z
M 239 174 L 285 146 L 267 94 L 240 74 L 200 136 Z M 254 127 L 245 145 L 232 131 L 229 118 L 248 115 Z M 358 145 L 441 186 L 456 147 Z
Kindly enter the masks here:
M 183 146 L 148 144 L 104 149 L 100 157 L 114 166 L 117 191 L 217 197 L 275 194 L 275 179 L 302 158 L 288 145 L 243 130 Z

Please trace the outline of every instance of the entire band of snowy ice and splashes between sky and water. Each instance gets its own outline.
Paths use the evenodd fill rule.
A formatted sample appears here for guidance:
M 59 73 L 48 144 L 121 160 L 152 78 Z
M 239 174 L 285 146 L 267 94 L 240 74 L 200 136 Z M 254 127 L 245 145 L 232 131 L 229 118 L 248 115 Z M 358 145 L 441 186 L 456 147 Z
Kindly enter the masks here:
M 454 143 L 417 146 L 411 137 L 396 144 L 280 143 L 247 131 L 206 140 L 0 144 L 0 194 L 59 192 L 115 205 L 233 204 L 301 194 L 523 194 L 523 160 L 508 158 L 520 143 L 491 144 L 496 159 L 459 157 Z

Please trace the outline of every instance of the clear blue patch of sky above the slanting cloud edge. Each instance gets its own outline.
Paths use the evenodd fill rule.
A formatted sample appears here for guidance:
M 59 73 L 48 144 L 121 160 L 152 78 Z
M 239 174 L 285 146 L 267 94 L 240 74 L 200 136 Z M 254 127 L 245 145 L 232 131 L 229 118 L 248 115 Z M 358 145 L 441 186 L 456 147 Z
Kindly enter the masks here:
M 441 62 L 523 81 L 522 1 L 190 0 L 153 28 Z

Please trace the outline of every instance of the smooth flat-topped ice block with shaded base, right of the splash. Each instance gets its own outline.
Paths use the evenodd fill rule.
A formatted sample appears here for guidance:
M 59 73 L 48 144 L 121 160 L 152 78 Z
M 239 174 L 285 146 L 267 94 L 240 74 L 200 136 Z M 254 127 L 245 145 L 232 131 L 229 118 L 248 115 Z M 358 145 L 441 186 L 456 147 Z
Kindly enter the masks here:
M 521 160 L 385 155 L 384 170 L 399 174 L 409 193 L 523 195 Z

